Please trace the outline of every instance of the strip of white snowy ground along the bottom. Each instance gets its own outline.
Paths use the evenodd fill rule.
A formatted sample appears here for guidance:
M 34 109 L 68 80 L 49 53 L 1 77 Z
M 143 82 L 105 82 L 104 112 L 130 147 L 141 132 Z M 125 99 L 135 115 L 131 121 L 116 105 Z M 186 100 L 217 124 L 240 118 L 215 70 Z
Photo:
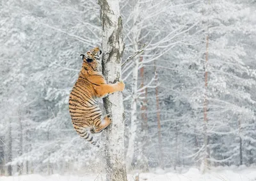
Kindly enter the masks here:
M 134 181 L 135 175 L 129 175 L 129 181 Z M 1 181 L 104 181 L 103 174 L 88 175 L 22 175 L 16 177 L 0 177 Z M 256 168 L 244 169 L 215 169 L 201 175 L 198 169 L 191 168 L 188 172 L 177 173 L 141 173 L 140 181 L 256 181 Z

